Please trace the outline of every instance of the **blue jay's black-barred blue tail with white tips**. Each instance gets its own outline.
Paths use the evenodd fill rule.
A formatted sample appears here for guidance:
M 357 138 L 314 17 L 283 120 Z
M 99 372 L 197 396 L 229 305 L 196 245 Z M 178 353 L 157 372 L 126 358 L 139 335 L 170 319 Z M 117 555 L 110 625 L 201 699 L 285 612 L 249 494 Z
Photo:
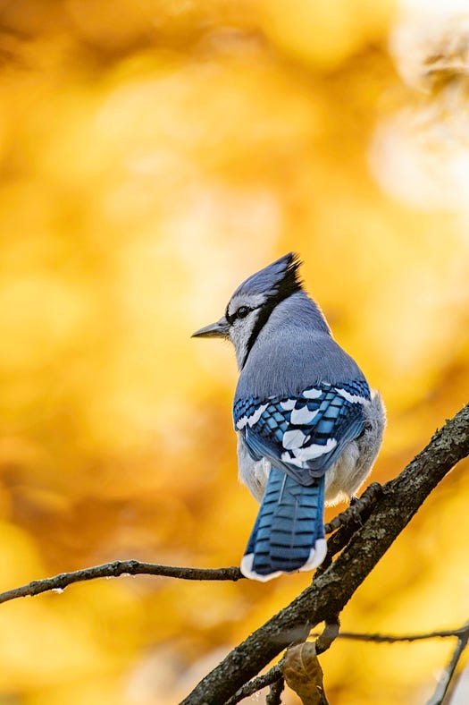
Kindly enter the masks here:
M 310 570 L 322 563 L 324 478 L 308 487 L 272 467 L 247 543 L 241 571 L 266 581 L 279 573 Z

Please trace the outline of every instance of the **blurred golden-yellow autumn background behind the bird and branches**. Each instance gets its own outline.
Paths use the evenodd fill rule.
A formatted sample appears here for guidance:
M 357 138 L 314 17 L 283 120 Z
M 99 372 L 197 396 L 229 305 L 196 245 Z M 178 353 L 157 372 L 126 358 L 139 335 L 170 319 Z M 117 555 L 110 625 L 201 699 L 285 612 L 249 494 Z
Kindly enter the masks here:
M 234 354 L 189 336 L 287 251 L 387 404 L 373 480 L 467 401 L 467 56 L 410 5 L 0 2 L 0 590 L 118 558 L 238 565 Z M 468 468 L 344 629 L 465 622 Z M 177 702 L 309 580 L 4 604 L 0 705 Z M 331 705 L 423 702 L 450 650 L 338 641 Z

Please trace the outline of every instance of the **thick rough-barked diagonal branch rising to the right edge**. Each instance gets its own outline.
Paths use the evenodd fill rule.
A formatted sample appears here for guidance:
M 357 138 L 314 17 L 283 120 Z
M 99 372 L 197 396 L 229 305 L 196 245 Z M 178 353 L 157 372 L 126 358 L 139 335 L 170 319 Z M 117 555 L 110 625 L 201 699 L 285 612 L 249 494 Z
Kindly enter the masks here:
M 469 404 L 438 430 L 395 480 L 383 487 L 347 548 L 297 599 L 252 633 L 197 684 L 182 705 L 220 705 L 281 650 L 306 639 L 323 620 L 339 615 L 374 565 L 397 539 L 440 480 L 469 454 Z

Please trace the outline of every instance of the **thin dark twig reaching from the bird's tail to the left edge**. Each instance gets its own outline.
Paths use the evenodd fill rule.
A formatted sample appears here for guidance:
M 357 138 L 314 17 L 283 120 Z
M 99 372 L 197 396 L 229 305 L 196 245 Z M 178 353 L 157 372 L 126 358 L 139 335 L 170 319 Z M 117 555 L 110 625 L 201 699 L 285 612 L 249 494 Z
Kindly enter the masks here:
M 244 578 L 238 567 L 230 568 L 180 568 L 175 565 L 157 565 L 141 563 L 140 561 L 113 561 L 104 565 L 95 565 L 73 573 L 60 573 L 54 578 L 34 580 L 20 588 L 0 592 L 0 604 L 10 599 L 25 598 L 39 595 L 49 590 L 64 590 L 73 582 L 95 580 L 96 578 L 117 578 L 120 575 L 160 575 L 166 578 L 182 580 L 230 580 L 238 581 Z

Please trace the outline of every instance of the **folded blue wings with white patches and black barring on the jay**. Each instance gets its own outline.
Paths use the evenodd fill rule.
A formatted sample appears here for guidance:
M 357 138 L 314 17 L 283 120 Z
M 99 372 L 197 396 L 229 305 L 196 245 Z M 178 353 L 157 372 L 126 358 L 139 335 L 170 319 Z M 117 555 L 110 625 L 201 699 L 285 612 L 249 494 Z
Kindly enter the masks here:
M 301 394 L 238 399 L 235 428 L 253 458 L 265 457 L 300 484 L 310 485 L 334 463 L 349 441 L 364 430 L 364 380 L 317 384 Z

